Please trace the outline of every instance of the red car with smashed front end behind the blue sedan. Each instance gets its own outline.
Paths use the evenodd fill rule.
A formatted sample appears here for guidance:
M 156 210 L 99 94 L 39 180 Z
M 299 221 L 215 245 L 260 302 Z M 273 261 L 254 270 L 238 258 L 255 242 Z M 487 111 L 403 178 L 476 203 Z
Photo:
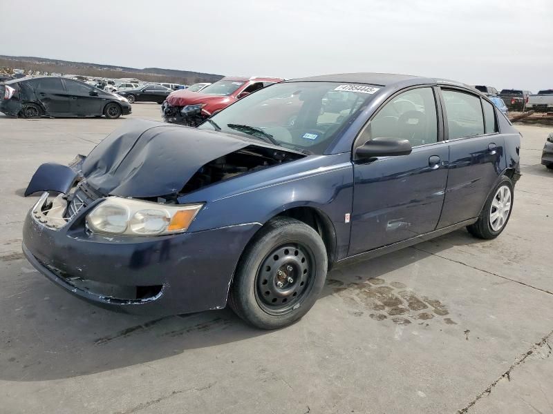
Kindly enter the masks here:
M 224 77 L 201 92 L 176 90 L 163 102 L 161 115 L 165 122 L 198 126 L 238 99 L 283 80 L 273 77 Z

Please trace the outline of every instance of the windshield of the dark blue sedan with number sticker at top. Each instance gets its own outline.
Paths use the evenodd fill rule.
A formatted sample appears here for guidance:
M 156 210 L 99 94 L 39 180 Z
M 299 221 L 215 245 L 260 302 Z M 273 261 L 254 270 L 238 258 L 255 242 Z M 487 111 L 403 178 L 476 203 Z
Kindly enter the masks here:
M 378 88 L 335 82 L 277 83 L 256 91 L 198 128 L 255 137 L 286 148 L 322 154 Z

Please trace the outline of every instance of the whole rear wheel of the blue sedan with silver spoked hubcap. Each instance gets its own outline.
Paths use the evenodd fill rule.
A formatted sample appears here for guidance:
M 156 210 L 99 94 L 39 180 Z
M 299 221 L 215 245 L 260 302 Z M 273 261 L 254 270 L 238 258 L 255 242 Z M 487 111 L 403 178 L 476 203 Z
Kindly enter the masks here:
M 480 239 L 495 239 L 505 230 L 511 217 L 514 193 L 509 177 L 503 176 L 490 193 L 476 223 L 467 226 L 472 235 Z

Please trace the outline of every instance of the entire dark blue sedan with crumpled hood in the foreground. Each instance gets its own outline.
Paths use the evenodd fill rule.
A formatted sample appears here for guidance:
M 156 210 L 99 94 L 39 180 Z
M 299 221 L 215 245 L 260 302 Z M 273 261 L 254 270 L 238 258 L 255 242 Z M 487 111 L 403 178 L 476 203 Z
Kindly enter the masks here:
M 321 113 L 336 91 L 349 107 Z M 462 83 L 284 81 L 198 128 L 126 121 L 88 157 L 43 164 L 26 190 L 45 193 L 26 215 L 23 251 L 106 308 L 169 315 L 228 299 L 253 326 L 280 328 L 308 312 L 332 266 L 459 228 L 498 237 L 520 141 Z

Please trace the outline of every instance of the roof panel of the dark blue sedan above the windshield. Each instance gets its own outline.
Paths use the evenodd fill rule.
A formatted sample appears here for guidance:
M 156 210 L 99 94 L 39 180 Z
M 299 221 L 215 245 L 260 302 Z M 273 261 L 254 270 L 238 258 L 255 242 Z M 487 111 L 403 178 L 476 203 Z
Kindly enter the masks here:
M 400 75 L 397 73 L 337 73 L 335 75 L 320 75 L 313 77 L 304 77 L 299 79 L 290 79 L 287 82 L 344 82 L 344 83 L 368 83 L 376 86 L 389 86 L 395 83 L 422 84 L 422 83 L 440 83 L 443 85 L 469 87 L 465 83 L 450 81 L 447 79 L 428 78 L 413 75 Z

